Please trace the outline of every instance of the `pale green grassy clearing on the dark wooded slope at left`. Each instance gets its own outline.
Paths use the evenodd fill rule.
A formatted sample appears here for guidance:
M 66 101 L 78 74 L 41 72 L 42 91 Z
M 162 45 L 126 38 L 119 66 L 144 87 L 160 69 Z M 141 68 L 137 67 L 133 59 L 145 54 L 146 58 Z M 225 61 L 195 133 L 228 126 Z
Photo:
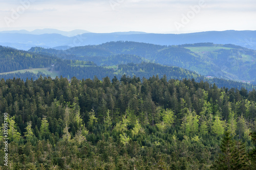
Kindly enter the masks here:
M 49 71 L 49 68 L 32 68 L 32 69 L 20 69 L 20 70 L 15 70 L 15 71 L 10 71 L 10 72 L 2 72 L 0 75 L 6 75 L 6 74 L 12 74 L 16 72 L 24 73 L 24 72 L 32 72 L 34 74 L 37 74 L 39 71 L 46 75 L 50 75 L 51 78 L 55 78 L 56 76 L 59 76 L 58 71 Z

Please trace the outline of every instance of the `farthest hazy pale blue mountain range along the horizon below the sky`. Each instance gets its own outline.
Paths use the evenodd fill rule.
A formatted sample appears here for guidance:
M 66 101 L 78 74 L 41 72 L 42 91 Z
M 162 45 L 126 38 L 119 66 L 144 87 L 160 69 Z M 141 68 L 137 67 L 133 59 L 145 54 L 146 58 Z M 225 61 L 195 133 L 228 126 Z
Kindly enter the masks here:
M 35 31 L 35 33 L 40 31 Z M 45 31 L 46 32 L 46 31 Z M 143 32 L 84 33 L 68 37 L 60 32 L 47 31 L 47 34 L 32 35 L 0 32 L 0 45 L 29 50 L 32 46 L 84 46 L 97 45 L 110 41 L 136 41 L 159 45 L 180 45 L 185 43 L 212 42 L 234 44 L 256 50 L 256 31 L 207 31 L 189 34 L 146 34 Z M 49 34 L 57 33 L 57 34 Z M 23 45 L 22 45 L 23 44 Z

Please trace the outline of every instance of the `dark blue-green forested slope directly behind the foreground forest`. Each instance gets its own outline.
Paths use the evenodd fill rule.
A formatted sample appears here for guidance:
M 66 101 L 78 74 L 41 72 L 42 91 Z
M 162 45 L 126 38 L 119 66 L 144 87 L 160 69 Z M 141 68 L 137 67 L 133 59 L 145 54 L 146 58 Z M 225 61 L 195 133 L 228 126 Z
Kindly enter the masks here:
M 144 44 L 146 46 L 148 44 Z M 135 47 L 134 47 L 135 48 Z M 151 48 L 153 49 L 153 48 Z M 210 84 L 216 83 L 218 87 L 227 87 L 227 88 L 238 88 L 241 87 L 246 88 L 247 90 L 252 90 L 254 86 L 252 84 L 241 83 L 236 81 L 228 81 L 224 79 L 212 78 L 208 79 L 204 76 L 198 75 L 196 72 L 189 71 L 180 67 L 169 67 L 163 66 L 156 63 L 147 62 L 145 58 L 135 56 L 133 54 L 116 54 L 109 57 L 101 57 L 101 56 L 89 56 L 88 58 L 92 59 L 91 61 L 81 61 L 81 60 L 65 60 L 58 58 L 58 51 L 50 50 L 52 53 L 40 52 L 44 50 L 42 48 L 34 48 L 37 53 L 26 52 L 14 50 L 8 47 L 2 47 L 0 51 L 1 58 L 3 60 L 0 61 L 2 67 L 2 74 L 0 74 L 0 78 L 5 79 L 13 79 L 13 77 L 23 78 L 24 80 L 29 77 L 31 79 L 31 73 L 24 72 L 17 74 L 20 69 L 28 69 L 26 71 L 31 71 L 34 73 L 34 78 L 38 78 L 38 71 L 34 71 L 34 68 L 43 68 L 46 71 L 45 75 L 54 75 L 52 78 L 56 76 L 66 77 L 71 79 L 72 77 L 77 77 L 77 79 L 93 79 L 96 76 L 99 80 L 108 76 L 111 79 L 115 76 L 120 79 L 123 75 L 126 77 L 137 76 L 140 78 L 149 78 L 152 76 L 159 76 L 160 78 L 166 76 L 167 80 L 169 79 L 194 79 L 197 82 L 200 81 L 208 81 Z M 45 49 L 47 50 L 47 49 Z M 57 54 L 57 55 L 56 55 Z M 66 53 L 61 52 L 62 55 L 66 55 Z M 69 55 L 66 55 L 69 56 Z M 77 57 L 77 59 L 83 59 L 83 57 Z M 96 66 L 94 62 L 102 62 L 104 65 L 112 65 L 113 66 Z M 130 63 L 135 62 L 135 63 Z M 53 65 L 53 66 L 52 66 Z M 17 70 L 14 73 L 9 72 Z M 9 74 L 3 74 L 3 72 L 7 72 Z

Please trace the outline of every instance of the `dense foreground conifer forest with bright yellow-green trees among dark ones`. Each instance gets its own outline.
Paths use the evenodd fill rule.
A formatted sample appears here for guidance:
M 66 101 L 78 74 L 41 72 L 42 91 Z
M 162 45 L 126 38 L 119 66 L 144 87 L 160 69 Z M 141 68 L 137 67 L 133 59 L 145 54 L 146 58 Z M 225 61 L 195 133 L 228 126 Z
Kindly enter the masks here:
M 255 89 L 166 76 L 2 79 L 0 111 L 1 169 L 256 168 Z

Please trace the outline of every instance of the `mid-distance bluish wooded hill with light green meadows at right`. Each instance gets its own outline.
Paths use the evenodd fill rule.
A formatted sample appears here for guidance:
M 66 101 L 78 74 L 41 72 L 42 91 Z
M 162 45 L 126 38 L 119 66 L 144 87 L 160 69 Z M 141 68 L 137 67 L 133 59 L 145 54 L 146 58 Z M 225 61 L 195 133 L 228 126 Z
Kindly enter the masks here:
M 135 62 L 151 61 L 186 68 L 204 76 L 256 82 L 256 51 L 232 44 L 197 43 L 166 46 L 118 41 L 73 47 L 66 51 L 41 47 L 33 47 L 29 51 L 49 53 L 62 59 L 94 61 L 97 65 L 120 64 L 120 55 L 124 57 L 124 62 L 133 56 L 137 58 Z

